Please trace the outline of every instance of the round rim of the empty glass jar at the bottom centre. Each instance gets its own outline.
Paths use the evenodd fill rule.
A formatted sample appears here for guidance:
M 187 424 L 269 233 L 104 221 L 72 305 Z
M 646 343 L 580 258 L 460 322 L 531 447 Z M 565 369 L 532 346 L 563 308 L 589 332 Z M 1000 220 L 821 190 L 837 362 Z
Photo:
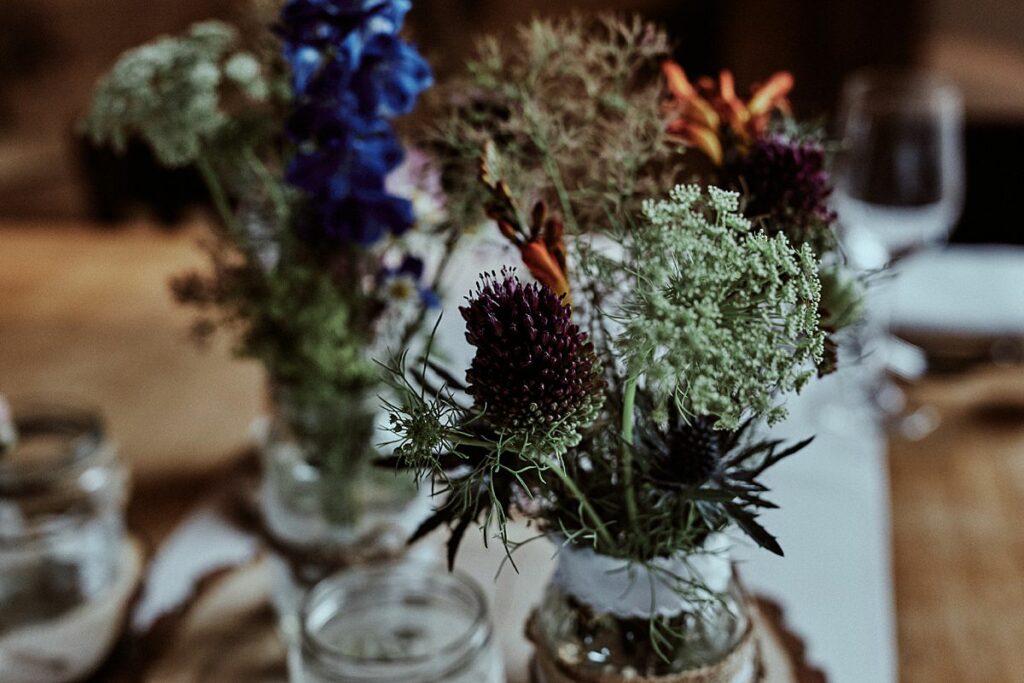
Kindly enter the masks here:
M 326 624 L 329 615 L 351 604 L 351 598 L 365 595 L 374 588 L 386 589 L 390 600 L 398 597 L 394 589 L 408 587 L 410 595 L 436 595 L 443 591 L 469 608 L 469 625 L 465 630 L 453 632 L 440 647 L 429 653 L 408 657 L 359 657 L 346 653 L 331 642 L 316 637 L 314 623 Z M 324 611 L 324 614 L 317 612 Z M 409 669 L 427 663 L 437 663 L 430 670 L 429 680 L 446 680 L 444 677 L 460 671 L 472 660 L 494 638 L 483 592 L 471 578 L 462 571 L 446 571 L 433 562 L 419 559 L 401 559 L 381 565 L 346 569 L 323 580 L 305 596 L 300 611 L 302 628 L 301 645 L 316 657 L 346 665 L 355 671 L 346 672 L 345 681 L 351 683 L 407 683 Z M 383 671 L 386 668 L 404 668 L 407 671 Z

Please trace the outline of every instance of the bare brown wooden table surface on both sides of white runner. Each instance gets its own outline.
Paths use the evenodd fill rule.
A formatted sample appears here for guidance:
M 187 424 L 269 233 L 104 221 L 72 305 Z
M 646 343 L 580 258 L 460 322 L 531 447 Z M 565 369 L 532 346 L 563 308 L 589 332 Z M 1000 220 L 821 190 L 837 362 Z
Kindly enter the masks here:
M 201 234 L 0 225 L 0 391 L 103 410 L 135 473 L 129 523 L 151 543 L 230 467 L 262 400 L 258 368 L 189 344 L 169 297 L 172 274 L 202 265 Z M 900 680 L 1024 680 L 1024 369 L 914 395 L 942 422 L 891 446 Z

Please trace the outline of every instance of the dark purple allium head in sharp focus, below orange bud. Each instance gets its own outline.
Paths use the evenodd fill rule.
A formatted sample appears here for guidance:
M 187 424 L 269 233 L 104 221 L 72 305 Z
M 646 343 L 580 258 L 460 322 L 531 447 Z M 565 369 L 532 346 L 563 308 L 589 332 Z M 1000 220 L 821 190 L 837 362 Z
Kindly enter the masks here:
M 476 354 L 466 372 L 468 392 L 500 430 L 569 432 L 593 420 L 603 399 L 594 346 L 570 318 L 570 308 L 543 285 L 510 271 L 485 274 L 459 310 Z

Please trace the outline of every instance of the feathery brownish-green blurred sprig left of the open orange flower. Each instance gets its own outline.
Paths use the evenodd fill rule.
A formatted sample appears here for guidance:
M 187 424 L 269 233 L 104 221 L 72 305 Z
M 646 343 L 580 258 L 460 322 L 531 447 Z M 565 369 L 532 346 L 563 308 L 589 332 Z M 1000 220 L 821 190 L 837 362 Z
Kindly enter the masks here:
M 439 91 L 424 131 L 438 157 L 454 221 L 475 224 L 479 159 L 500 152 L 496 177 L 562 212 L 569 232 L 607 227 L 670 186 L 678 151 L 664 141 L 658 65 L 664 33 L 639 18 L 536 19 L 502 45 L 479 43 L 466 74 Z

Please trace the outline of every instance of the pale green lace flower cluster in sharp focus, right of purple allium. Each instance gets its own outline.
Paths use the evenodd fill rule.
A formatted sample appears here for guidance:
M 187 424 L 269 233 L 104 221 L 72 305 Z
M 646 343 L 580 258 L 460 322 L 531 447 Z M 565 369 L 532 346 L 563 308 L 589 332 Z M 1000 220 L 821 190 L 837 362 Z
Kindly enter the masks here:
M 679 185 L 647 201 L 628 238 L 633 291 L 621 349 L 655 400 L 735 429 L 749 416 L 785 416 L 781 392 L 799 390 L 823 352 L 818 262 L 781 233 L 753 232 L 739 196 Z

